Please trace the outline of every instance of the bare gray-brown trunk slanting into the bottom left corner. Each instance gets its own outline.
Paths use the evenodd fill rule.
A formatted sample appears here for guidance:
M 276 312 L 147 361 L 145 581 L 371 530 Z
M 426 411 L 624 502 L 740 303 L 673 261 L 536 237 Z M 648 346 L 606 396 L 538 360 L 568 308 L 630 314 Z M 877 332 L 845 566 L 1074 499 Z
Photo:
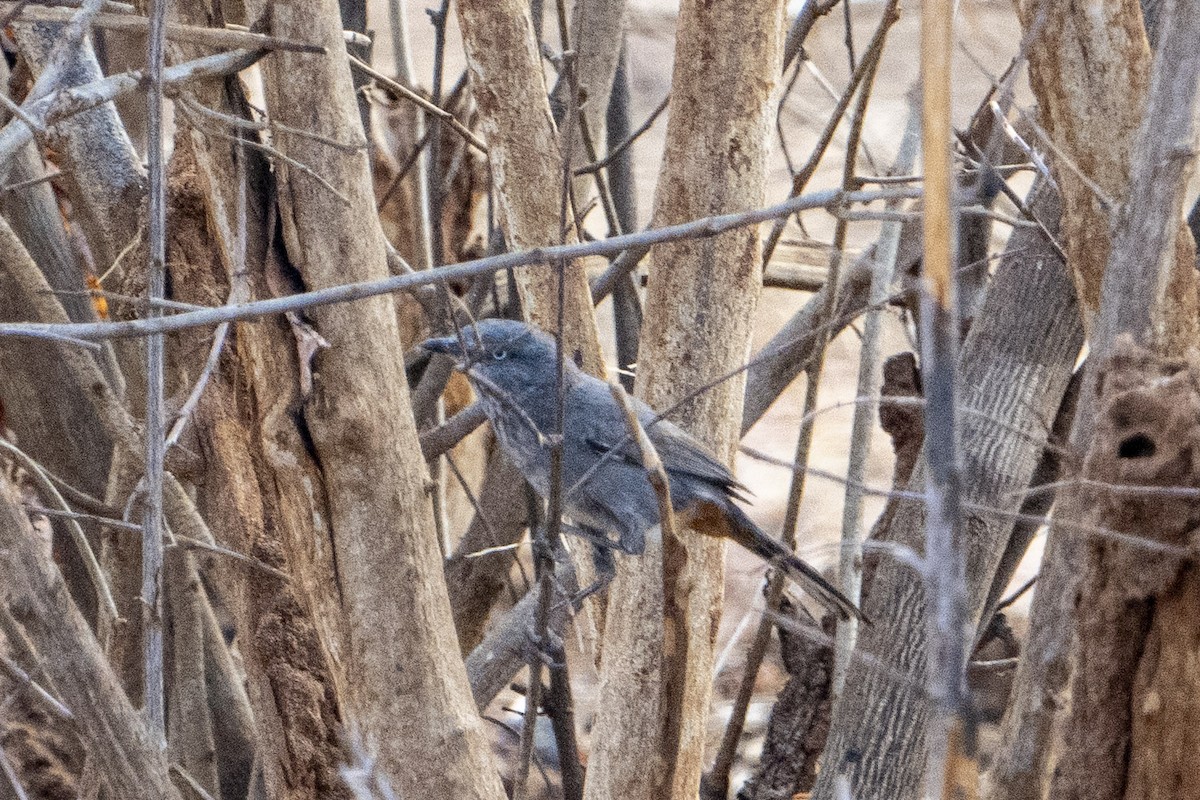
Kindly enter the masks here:
M 13 487 L 0 476 L 0 597 L 71 710 L 100 780 L 113 798 L 179 798 L 167 760 L 151 744 L 58 569 L 38 546 Z M 26 669 L 35 668 L 26 664 Z

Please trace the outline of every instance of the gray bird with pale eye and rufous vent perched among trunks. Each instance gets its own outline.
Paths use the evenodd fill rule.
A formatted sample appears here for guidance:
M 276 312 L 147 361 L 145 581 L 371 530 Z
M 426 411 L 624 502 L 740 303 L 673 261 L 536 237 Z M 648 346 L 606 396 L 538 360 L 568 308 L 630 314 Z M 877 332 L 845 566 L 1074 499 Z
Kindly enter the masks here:
M 424 342 L 433 353 L 461 360 L 497 440 L 542 498 L 550 494 L 550 434 L 556 420 L 554 341 L 523 323 L 487 319 Z M 608 385 L 564 365 L 563 511 L 589 539 L 625 553 L 646 549 L 646 531 L 659 524 L 659 504 L 637 443 Z M 701 443 L 646 403 L 634 399 L 671 483 L 671 505 L 682 524 L 732 539 L 785 573 L 841 619 L 862 613 L 820 572 L 758 528 L 734 500 L 745 487 Z M 616 534 L 617 541 L 607 534 Z

